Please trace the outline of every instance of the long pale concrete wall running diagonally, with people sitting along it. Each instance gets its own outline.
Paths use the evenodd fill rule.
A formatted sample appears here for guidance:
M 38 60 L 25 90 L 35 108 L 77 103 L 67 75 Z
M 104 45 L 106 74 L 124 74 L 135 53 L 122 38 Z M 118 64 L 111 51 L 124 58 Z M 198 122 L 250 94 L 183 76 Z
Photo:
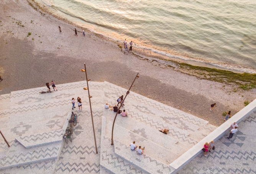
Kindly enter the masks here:
M 184 167 L 187 163 L 189 163 L 192 159 L 194 159 L 197 155 L 202 153 L 203 144 L 205 142 L 210 142 L 211 140 L 218 140 L 223 135 L 228 133 L 227 131 L 230 129 L 230 125 L 233 122 L 239 123 L 240 121 L 243 121 L 246 119 L 256 108 L 256 99 L 253 100 L 249 105 L 247 105 L 245 108 L 240 110 L 238 113 L 236 113 L 234 116 L 232 116 L 230 119 L 228 119 L 226 122 L 224 122 L 221 126 L 219 126 L 217 129 L 215 129 L 212 133 L 207 135 L 204 139 L 202 139 L 200 142 L 198 142 L 194 147 L 190 148 L 188 151 L 186 151 L 183 155 L 181 155 L 179 158 L 177 158 L 175 161 L 173 161 L 170 166 L 176 169 L 172 174 L 175 174 L 178 172 L 182 167 Z

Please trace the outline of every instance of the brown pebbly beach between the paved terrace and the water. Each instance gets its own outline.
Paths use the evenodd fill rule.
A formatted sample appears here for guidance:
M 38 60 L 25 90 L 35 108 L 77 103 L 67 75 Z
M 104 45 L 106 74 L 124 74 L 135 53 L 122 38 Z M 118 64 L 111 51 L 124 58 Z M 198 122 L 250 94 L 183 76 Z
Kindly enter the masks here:
M 245 100 L 255 98 L 256 89 L 242 90 L 235 84 L 199 79 L 155 55 L 136 52 L 136 46 L 133 53 L 126 53 L 118 47 L 123 43 L 86 29 L 84 37 L 82 28 L 49 15 L 33 0 L 3 0 L 0 4 L 0 95 L 45 86 L 52 80 L 56 86 L 83 81 L 85 75 L 79 69 L 86 63 L 92 81 L 108 81 L 126 89 L 139 72 L 132 91 L 215 126 L 224 122 L 224 111 L 231 110 L 234 115 Z M 75 28 L 78 36 L 74 35 Z M 210 111 L 212 103 L 217 107 Z

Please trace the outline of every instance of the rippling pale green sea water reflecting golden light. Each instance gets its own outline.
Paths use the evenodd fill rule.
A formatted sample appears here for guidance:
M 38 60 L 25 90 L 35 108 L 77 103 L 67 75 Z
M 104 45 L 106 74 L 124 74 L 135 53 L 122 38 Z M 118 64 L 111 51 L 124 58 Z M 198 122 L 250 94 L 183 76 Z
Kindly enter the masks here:
M 255 0 L 42 1 L 70 21 L 136 47 L 256 73 Z

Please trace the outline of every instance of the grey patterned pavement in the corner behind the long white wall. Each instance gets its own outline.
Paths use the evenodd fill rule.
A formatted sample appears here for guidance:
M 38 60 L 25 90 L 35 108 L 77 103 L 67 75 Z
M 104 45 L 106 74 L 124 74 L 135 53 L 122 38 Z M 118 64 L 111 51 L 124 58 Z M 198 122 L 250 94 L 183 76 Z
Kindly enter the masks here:
M 215 150 L 195 157 L 178 174 L 256 174 L 256 152 L 254 145 L 256 111 L 238 124 L 238 132 L 228 140 L 227 132 L 215 142 Z

